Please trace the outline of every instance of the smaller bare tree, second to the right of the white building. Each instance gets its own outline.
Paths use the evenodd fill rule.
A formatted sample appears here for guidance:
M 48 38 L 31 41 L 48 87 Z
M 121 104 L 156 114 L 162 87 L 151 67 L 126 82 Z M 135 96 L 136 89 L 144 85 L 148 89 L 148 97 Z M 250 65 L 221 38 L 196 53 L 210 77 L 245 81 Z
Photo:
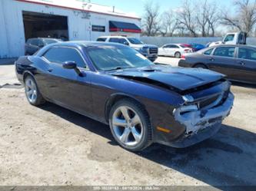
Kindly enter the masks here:
M 170 10 L 161 15 L 161 35 L 172 37 L 178 28 L 178 20 L 175 13 Z

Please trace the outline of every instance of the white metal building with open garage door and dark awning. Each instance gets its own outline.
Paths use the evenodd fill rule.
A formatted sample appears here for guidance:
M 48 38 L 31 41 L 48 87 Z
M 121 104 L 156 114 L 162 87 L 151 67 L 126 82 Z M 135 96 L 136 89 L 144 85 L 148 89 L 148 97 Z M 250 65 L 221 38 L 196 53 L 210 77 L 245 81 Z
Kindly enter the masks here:
M 0 58 L 23 55 L 28 38 L 139 37 L 140 25 L 136 15 L 81 0 L 0 0 Z

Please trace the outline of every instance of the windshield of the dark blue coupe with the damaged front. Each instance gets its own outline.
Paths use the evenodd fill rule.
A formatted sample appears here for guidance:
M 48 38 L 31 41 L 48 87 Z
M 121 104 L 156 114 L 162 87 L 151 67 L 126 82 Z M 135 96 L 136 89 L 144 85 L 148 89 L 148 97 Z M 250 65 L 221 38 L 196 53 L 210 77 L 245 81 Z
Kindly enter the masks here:
M 88 56 L 101 71 L 138 68 L 153 64 L 133 48 L 121 45 L 95 45 L 87 48 Z

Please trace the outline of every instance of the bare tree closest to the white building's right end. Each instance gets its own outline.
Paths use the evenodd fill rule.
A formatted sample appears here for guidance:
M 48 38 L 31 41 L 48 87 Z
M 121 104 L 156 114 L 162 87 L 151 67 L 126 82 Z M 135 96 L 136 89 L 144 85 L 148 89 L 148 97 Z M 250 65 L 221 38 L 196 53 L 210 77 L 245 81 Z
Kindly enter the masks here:
M 149 1 L 145 3 L 145 15 L 143 17 L 144 34 L 155 36 L 160 30 L 159 5 Z

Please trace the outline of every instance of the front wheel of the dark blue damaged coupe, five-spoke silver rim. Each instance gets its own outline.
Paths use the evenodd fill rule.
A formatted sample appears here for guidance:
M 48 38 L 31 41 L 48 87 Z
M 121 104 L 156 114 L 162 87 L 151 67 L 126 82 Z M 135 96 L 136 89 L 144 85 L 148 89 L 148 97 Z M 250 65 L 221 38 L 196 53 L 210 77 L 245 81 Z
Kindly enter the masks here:
M 109 114 L 111 133 L 118 144 L 132 152 L 151 144 L 152 127 L 147 112 L 132 99 L 119 100 Z

